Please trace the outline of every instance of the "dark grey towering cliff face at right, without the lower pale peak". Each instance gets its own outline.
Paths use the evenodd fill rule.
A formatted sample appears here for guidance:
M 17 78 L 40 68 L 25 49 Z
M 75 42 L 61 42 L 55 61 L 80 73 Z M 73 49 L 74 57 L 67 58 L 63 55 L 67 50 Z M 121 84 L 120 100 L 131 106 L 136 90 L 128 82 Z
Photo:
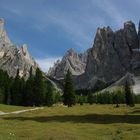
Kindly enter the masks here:
M 140 75 L 139 36 L 132 21 L 116 32 L 110 27 L 97 29 L 85 73 L 74 81 L 77 89 L 104 88 L 128 72 Z

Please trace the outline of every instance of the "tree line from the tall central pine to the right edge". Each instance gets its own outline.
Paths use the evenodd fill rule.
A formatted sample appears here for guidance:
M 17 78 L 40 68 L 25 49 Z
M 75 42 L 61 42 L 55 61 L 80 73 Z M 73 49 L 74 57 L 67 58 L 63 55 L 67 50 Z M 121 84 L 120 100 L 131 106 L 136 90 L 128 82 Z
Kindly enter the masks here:
M 133 107 L 135 104 L 140 103 L 140 95 L 135 95 L 133 93 L 128 81 L 125 81 L 121 90 L 115 90 L 112 92 L 102 91 L 96 93 L 92 90 L 84 90 L 84 92 L 79 93 L 78 91 L 78 94 L 76 94 L 71 77 L 71 72 L 68 70 L 64 84 L 63 101 L 64 104 L 69 107 L 76 103 L 81 105 L 84 103 L 116 104 L 116 107 L 119 107 L 119 104 L 126 104 L 127 106 Z

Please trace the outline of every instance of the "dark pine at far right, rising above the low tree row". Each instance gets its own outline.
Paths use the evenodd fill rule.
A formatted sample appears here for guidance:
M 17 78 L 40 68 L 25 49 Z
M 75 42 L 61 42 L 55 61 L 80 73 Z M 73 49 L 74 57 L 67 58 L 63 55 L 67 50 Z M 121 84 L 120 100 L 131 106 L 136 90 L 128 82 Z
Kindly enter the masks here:
M 132 93 L 132 90 L 128 81 L 125 82 L 124 93 L 125 93 L 126 105 L 134 106 L 133 93 Z

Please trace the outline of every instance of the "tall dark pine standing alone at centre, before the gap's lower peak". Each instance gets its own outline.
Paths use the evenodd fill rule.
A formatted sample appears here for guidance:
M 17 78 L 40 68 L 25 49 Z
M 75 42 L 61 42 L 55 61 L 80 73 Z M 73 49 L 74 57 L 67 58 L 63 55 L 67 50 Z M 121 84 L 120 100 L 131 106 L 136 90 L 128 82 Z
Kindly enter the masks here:
M 64 105 L 68 105 L 68 107 L 71 107 L 72 105 L 75 104 L 75 91 L 70 70 L 67 71 L 65 77 L 63 98 Z

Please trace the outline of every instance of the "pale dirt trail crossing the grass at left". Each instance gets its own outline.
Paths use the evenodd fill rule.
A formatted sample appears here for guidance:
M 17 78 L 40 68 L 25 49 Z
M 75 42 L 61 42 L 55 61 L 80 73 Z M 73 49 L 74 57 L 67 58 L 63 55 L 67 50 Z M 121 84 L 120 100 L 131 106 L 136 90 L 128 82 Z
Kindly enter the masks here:
M 0 111 L 0 116 L 9 115 L 9 114 L 19 114 L 19 113 L 34 111 L 34 110 L 39 110 L 39 109 L 43 109 L 43 107 L 36 107 L 36 108 L 25 109 L 25 110 L 18 110 L 18 111 L 13 111 L 13 112 L 2 112 L 2 111 Z

